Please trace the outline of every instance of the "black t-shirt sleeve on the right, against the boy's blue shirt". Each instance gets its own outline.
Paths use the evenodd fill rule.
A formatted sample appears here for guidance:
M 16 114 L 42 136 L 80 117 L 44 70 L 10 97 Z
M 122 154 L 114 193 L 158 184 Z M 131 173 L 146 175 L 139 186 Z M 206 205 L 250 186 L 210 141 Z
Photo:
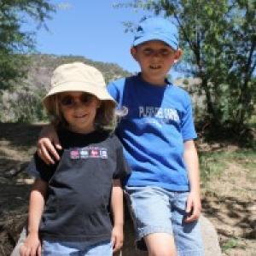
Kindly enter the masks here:
M 122 144 L 119 141 L 117 144 L 118 146 L 116 148 L 116 169 L 115 172 L 113 172 L 113 179 L 119 178 L 124 181 L 125 177 L 131 174 L 131 169 L 125 160 Z

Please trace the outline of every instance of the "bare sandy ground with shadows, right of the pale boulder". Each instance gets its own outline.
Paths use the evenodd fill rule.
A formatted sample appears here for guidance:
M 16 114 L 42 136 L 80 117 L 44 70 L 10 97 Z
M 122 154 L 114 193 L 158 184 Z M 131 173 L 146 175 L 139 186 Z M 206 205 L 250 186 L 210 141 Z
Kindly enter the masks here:
M 256 172 L 230 163 L 203 189 L 203 212 L 218 231 L 223 255 L 256 255 Z

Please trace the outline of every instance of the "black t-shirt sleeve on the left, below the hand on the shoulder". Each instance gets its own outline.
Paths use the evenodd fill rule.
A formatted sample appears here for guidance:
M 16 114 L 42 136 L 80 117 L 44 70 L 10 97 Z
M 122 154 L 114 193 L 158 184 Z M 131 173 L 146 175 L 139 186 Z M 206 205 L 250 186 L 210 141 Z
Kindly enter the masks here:
M 35 153 L 26 169 L 26 172 L 28 172 L 32 177 L 40 178 L 44 180 L 44 182 L 48 183 L 55 172 L 56 166 L 57 163 L 55 165 L 45 164 L 44 160 L 41 160 L 38 154 Z

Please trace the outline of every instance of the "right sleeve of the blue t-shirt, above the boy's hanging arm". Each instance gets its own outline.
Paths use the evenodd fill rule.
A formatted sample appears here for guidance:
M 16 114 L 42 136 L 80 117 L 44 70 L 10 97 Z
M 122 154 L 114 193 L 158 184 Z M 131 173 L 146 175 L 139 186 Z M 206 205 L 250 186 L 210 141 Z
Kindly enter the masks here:
M 192 110 L 192 103 L 190 100 L 189 95 L 186 96 L 186 105 L 185 111 L 182 118 L 182 135 L 183 141 L 188 141 L 191 139 L 195 139 L 197 137 L 195 131 L 195 124 L 193 119 L 193 110 Z

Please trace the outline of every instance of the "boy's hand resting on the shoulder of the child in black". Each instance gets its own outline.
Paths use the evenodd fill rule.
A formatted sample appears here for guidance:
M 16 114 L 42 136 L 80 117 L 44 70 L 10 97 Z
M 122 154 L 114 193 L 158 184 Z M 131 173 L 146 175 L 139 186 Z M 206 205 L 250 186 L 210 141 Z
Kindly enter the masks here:
M 60 160 L 55 148 L 61 149 L 59 137 L 53 125 L 46 125 L 39 135 L 38 155 L 46 164 L 55 164 L 55 160 Z

